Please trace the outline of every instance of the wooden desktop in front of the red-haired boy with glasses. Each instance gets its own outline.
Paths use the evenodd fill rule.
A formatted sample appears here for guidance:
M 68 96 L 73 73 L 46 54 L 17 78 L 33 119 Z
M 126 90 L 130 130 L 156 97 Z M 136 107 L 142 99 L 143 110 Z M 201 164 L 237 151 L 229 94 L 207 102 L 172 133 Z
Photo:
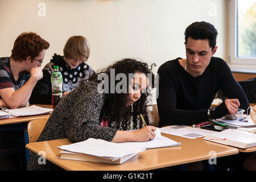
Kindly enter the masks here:
M 36 104 L 36 105 L 40 106 L 40 107 L 51 108 L 51 105 L 39 105 L 39 104 Z M 28 122 L 28 121 L 31 121 L 31 120 L 34 120 L 34 119 L 48 118 L 49 115 L 51 115 L 51 114 L 30 115 L 30 116 L 26 116 L 26 117 L 0 119 L 0 125 L 7 125 L 7 124 L 19 123 L 19 122 Z

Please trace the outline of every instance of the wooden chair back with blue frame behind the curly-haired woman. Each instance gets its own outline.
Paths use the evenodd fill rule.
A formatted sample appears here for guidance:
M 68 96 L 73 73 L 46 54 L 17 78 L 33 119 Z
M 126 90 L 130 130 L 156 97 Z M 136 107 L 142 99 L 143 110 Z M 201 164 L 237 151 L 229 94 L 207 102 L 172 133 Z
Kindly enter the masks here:
M 27 132 L 25 133 L 25 144 L 36 142 L 46 125 L 48 118 L 35 119 L 27 124 Z M 26 162 L 30 158 L 30 151 L 26 148 Z

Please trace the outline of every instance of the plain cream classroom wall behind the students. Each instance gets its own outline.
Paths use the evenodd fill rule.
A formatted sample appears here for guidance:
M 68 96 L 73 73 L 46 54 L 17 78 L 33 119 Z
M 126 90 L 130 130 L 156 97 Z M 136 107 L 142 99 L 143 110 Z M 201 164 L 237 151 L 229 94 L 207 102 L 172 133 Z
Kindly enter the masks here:
M 33 31 L 50 43 L 44 66 L 53 53 L 63 54 L 70 36 L 83 35 L 91 47 L 88 64 L 95 70 L 123 57 L 135 57 L 156 63 L 156 72 L 165 61 L 185 57 L 185 28 L 204 20 L 218 30 L 216 56 L 227 59 L 226 2 L 0 0 L 0 57 L 10 56 L 14 40 L 21 32 Z

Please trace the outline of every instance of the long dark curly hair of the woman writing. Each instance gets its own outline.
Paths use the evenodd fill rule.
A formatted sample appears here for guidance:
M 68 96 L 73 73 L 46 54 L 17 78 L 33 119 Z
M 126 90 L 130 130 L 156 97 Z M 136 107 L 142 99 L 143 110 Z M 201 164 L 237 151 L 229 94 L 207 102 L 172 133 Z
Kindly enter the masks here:
M 129 83 L 129 73 L 141 72 L 144 73 L 147 78 L 150 80 L 150 87 L 154 87 L 154 74 L 151 68 L 148 68 L 147 63 L 142 61 L 137 61 L 135 59 L 122 59 L 117 61 L 113 65 L 110 65 L 108 68 L 102 69 L 101 72 L 98 72 L 96 75 L 91 77 L 89 80 L 101 82 L 98 80 L 98 75 L 101 73 L 105 73 L 108 75 L 109 80 L 109 92 L 105 93 L 105 101 L 104 106 L 101 110 L 100 119 L 104 121 L 108 121 L 109 126 L 115 126 L 119 130 L 129 130 L 131 125 L 131 119 L 133 121 L 133 129 L 139 129 L 142 127 L 141 119 L 139 119 L 139 114 L 147 114 L 146 111 L 146 98 L 150 94 L 148 88 L 146 93 L 141 94 L 141 98 L 138 101 L 134 102 L 133 110 L 132 106 L 127 106 L 129 101 L 129 93 L 111 93 L 110 92 L 110 81 L 113 79 L 110 78 L 110 70 L 114 69 L 114 75 L 116 76 L 118 73 L 124 73 L 127 78 L 127 83 Z M 151 74 L 148 74 L 151 73 Z M 147 75 L 148 74 L 148 75 Z M 151 77 L 150 77 L 151 76 Z M 113 79 L 115 80 L 115 79 Z M 115 85 L 119 80 L 115 80 Z M 127 84 L 127 90 L 129 84 Z

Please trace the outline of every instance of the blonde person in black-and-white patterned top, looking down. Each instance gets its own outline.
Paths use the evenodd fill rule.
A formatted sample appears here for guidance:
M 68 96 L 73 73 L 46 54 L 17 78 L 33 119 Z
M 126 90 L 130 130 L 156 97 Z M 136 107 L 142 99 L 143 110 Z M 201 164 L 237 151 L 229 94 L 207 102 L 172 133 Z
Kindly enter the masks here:
M 86 64 L 90 55 L 88 40 L 83 36 L 72 36 L 63 49 L 64 56 L 53 55 L 50 63 L 43 69 L 43 78 L 36 84 L 30 104 L 51 104 L 51 74 L 54 66 L 59 66 L 63 76 L 63 96 L 77 88 L 81 81 L 94 75 L 93 69 Z

